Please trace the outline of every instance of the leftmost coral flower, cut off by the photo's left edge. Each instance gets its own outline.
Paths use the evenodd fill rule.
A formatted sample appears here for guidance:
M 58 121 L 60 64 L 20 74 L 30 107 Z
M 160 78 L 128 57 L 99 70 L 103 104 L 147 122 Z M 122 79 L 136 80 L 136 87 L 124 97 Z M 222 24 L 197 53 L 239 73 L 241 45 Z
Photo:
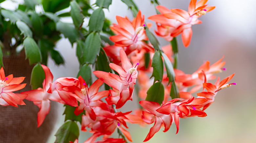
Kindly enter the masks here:
M 26 84 L 20 84 L 25 77 L 13 77 L 12 74 L 5 76 L 3 67 L 0 69 L 0 105 L 14 106 L 26 105 L 23 100 L 28 96 L 27 94 L 13 93 L 13 91 L 20 90 Z

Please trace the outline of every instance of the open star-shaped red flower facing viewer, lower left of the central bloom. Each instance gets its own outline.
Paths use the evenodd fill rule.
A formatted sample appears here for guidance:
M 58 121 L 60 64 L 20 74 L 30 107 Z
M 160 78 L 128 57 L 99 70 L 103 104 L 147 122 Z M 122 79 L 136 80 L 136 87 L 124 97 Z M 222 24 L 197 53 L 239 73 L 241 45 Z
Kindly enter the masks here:
M 106 103 L 103 103 L 99 101 L 102 97 L 106 97 L 109 95 L 109 90 L 100 91 L 99 87 L 103 84 L 103 82 L 100 79 L 97 79 L 90 88 L 87 87 L 87 84 L 85 83 L 84 79 L 79 76 L 79 83 L 80 88 L 77 87 L 77 89 L 74 91 L 77 95 L 77 100 L 80 102 L 79 106 L 75 108 L 75 115 L 79 115 L 83 110 L 86 110 L 91 119 L 96 120 L 95 112 L 93 111 L 93 107 L 99 106 L 101 108 L 104 108 L 106 106 Z

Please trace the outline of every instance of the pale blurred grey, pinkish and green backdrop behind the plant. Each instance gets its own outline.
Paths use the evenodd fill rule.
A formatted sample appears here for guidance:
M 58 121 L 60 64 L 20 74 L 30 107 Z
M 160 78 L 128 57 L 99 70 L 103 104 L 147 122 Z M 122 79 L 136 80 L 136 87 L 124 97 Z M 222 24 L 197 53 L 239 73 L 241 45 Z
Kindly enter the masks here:
M 21 0 L 22 1 L 22 0 Z M 3 5 L 10 5 L 11 1 Z M 93 4 L 95 0 L 91 0 Z M 145 21 L 151 15 L 155 15 L 155 8 L 150 0 L 136 0 Z M 180 8 L 187 10 L 190 0 L 159 0 L 166 8 Z M 256 27 L 255 0 L 208 0 L 209 6 L 216 6 L 214 10 L 200 17 L 202 24 L 193 25 L 193 36 L 188 48 L 185 48 L 181 36 L 177 37 L 179 46 L 178 69 L 192 74 L 204 61 L 212 63 L 225 56 L 226 71 L 217 74 L 221 79 L 235 72 L 230 83 L 236 82 L 236 86 L 225 88 L 218 92 L 215 102 L 205 110 L 207 116 L 180 120 L 180 130 L 177 135 L 176 126 L 173 124 L 169 131 L 163 133 L 163 128 L 156 133 L 148 143 L 155 142 L 192 142 L 192 143 L 255 143 L 256 142 Z M 115 16 L 128 16 L 132 19 L 132 13 L 120 0 L 113 0 L 109 11 L 105 9 L 105 17 L 113 23 L 117 23 Z M 72 19 L 62 19 L 72 23 Z M 85 24 L 88 21 L 85 21 Z M 158 38 L 161 45 L 168 42 Z M 54 80 L 58 77 L 76 77 L 79 63 L 75 57 L 75 48 L 67 39 L 57 43 L 58 51 L 64 57 L 66 64 L 55 66 L 49 59 L 48 67 L 53 72 Z M 214 83 L 216 80 L 213 80 Z M 131 111 L 138 107 L 137 100 L 128 101 L 121 111 Z M 49 139 L 54 142 L 57 129 L 63 124 L 63 105 L 59 105 L 59 121 Z M 141 143 L 153 124 L 144 128 L 138 125 L 128 124 L 133 142 Z M 92 134 L 80 132 L 79 143 L 82 143 Z M 117 137 L 117 133 L 113 134 Z

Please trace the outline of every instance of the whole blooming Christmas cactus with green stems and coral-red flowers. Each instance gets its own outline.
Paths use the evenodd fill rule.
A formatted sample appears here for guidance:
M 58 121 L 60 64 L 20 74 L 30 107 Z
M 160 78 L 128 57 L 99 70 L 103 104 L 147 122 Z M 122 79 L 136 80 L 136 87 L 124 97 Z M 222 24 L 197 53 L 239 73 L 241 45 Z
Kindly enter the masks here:
M 216 79 L 214 74 L 226 70 L 223 58 L 212 65 L 205 61 L 192 74 L 179 70 L 176 37 L 181 34 L 184 46 L 189 47 L 192 25 L 201 24 L 200 17 L 215 7 L 208 6 L 208 0 L 191 0 L 188 11 L 168 9 L 152 0 L 157 14 L 148 19 L 156 22 L 155 35 L 170 41 L 161 47 L 151 32 L 154 23 L 144 22 L 145 16 L 132 0 L 121 1 L 131 9 L 134 18 L 117 15 L 117 24 L 111 24 L 104 16 L 103 9 L 108 9 L 112 0 L 96 0 L 95 4 L 87 0 L 43 0 L 42 3 L 25 0 L 14 11 L 1 8 L 0 104 L 18 107 L 25 105 L 24 99 L 32 101 L 39 107 L 37 127 L 48 115 L 50 102 L 65 104 L 65 123 L 55 134 L 56 143 L 77 143 L 77 124 L 81 124 L 81 131 L 92 133 L 84 143 L 132 142 L 127 123 L 138 124 L 138 128 L 152 124 L 144 137 L 146 142 L 161 127 L 166 132 L 172 124 L 177 134 L 180 118 L 207 116 L 205 109 L 214 102 L 217 92 L 236 85 L 229 83 L 234 74 L 221 81 L 218 77 L 215 84 L 209 82 Z M 42 6 L 40 12 L 35 11 L 38 5 Z M 69 6 L 70 11 L 58 12 Z M 70 16 L 73 24 L 62 22 L 62 16 Z M 84 24 L 85 17 L 89 18 L 88 25 Z M 3 33 L 8 31 L 15 44 L 5 44 Z M 53 81 L 47 59 L 51 56 L 57 65 L 64 64 L 54 49 L 61 34 L 72 44 L 76 43 L 80 70 L 77 77 L 58 77 Z M 32 90 L 13 93 L 29 85 L 21 84 L 25 77 L 5 76 L 2 57 L 13 52 L 18 54 L 19 45 L 24 47 L 26 58 L 34 66 Z M 98 79 L 94 80 L 92 73 Z M 133 101 L 134 96 L 139 102 Z M 129 100 L 138 102 L 141 108 L 118 111 Z M 115 131 L 119 138 L 111 137 Z M 102 140 L 96 141 L 97 138 Z

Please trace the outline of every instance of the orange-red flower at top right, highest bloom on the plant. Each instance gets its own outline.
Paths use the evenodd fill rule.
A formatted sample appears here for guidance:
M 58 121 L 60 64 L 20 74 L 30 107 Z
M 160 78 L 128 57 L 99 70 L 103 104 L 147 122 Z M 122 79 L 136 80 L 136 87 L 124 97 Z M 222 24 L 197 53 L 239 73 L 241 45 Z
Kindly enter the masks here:
M 207 12 L 213 10 L 215 7 L 205 5 L 208 0 L 191 0 L 188 6 L 188 12 L 182 9 L 167 9 L 163 6 L 156 8 L 161 14 L 153 15 L 148 19 L 158 23 L 156 34 L 172 40 L 181 34 L 181 39 L 185 47 L 188 47 L 192 37 L 191 26 L 194 24 L 201 24 L 198 18 L 205 15 Z M 160 25 L 159 25 L 160 24 Z

